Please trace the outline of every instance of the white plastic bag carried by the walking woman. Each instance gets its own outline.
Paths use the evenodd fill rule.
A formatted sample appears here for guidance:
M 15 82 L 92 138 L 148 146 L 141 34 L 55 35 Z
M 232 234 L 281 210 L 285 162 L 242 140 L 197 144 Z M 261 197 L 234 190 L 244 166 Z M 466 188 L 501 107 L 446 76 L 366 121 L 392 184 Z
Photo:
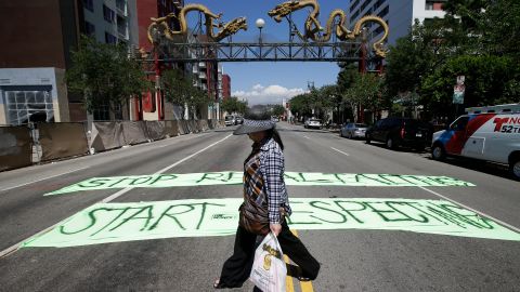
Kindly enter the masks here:
M 255 252 L 249 280 L 263 292 L 285 292 L 287 268 L 278 240 L 270 233 Z

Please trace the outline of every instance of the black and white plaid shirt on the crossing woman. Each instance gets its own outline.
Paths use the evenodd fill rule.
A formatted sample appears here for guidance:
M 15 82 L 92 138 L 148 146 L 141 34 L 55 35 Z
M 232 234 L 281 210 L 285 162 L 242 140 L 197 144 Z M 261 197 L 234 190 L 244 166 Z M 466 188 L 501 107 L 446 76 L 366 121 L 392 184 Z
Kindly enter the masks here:
M 252 196 L 259 204 L 265 203 L 266 198 L 270 223 L 282 223 L 281 208 L 287 215 L 291 213 L 284 182 L 284 154 L 273 138 L 252 147 L 253 150 L 244 164 L 247 173 L 245 193 Z M 255 168 L 257 163 L 259 165 Z

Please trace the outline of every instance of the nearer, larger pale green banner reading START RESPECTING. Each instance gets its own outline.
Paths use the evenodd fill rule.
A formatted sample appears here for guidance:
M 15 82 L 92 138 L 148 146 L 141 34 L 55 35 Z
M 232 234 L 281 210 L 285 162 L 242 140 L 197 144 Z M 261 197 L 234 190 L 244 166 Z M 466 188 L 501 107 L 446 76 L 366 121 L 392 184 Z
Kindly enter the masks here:
M 23 247 L 234 235 L 243 199 L 98 203 Z M 443 200 L 292 198 L 294 229 L 385 229 L 520 241 L 520 234 Z

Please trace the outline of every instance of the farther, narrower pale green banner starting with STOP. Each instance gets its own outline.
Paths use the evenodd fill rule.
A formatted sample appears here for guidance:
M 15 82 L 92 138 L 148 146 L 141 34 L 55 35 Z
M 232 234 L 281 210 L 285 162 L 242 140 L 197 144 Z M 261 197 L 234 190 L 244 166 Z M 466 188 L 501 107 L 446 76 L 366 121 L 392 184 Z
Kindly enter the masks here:
M 127 187 L 242 185 L 242 180 L 243 173 L 234 171 L 93 177 L 46 194 L 46 196 Z M 474 186 L 448 176 L 318 172 L 286 172 L 285 183 L 291 186 Z

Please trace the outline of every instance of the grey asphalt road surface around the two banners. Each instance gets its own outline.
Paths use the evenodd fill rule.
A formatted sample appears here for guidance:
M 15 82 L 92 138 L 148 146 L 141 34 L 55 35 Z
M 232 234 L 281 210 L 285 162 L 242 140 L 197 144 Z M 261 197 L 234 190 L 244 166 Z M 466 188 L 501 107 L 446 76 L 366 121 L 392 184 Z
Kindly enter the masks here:
M 240 198 L 237 185 L 42 196 L 94 176 L 240 171 L 251 143 L 246 136 L 232 136 L 232 129 L 0 173 L 0 291 L 211 291 L 234 236 L 14 248 L 102 200 Z M 477 185 L 288 186 L 289 197 L 450 199 L 519 230 L 520 185 L 502 168 L 438 162 L 427 152 L 389 150 L 284 122 L 278 129 L 286 171 L 446 175 Z M 520 291 L 520 241 L 363 229 L 298 230 L 298 236 L 322 269 L 310 286 L 295 281 L 295 291 Z M 234 291 L 251 290 L 246 282 Z

